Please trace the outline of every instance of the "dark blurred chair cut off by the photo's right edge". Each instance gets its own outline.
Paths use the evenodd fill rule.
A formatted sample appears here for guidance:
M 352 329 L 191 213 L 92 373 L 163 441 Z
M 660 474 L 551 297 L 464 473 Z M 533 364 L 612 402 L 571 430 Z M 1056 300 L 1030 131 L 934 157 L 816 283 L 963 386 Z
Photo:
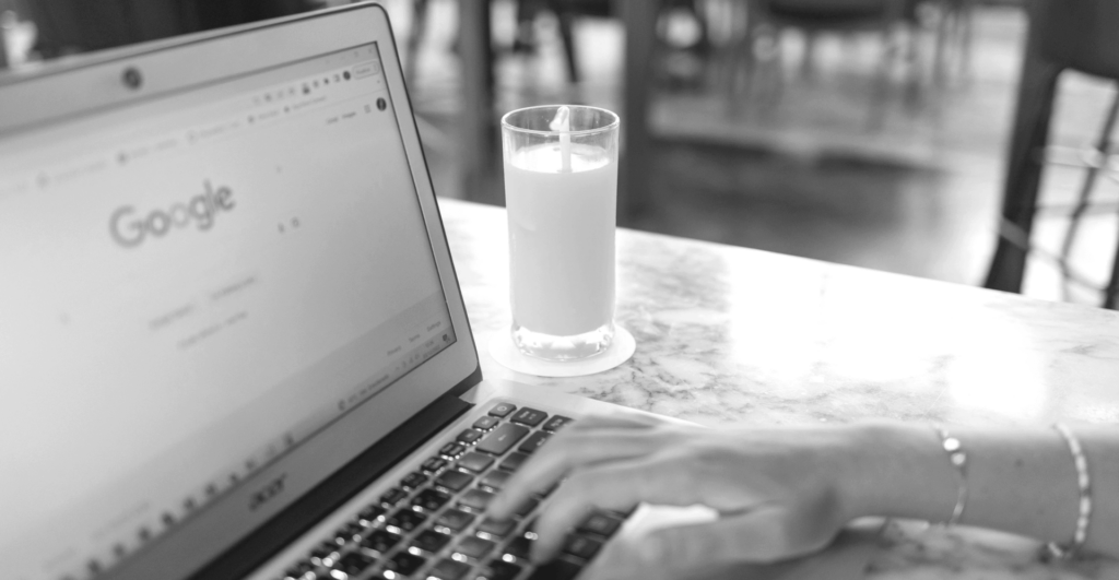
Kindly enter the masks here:
M 984 284 L 988 288 L 1007 292 L 1022 292 L 1026 258 L 1032 249 L 1031 231 L 1038 209 L 1050 117 L 1061 73 L 1075 69 L 1119 80 L 1119 1 L 1033 0 L 1028 11 L 1029 34 L 1003 191 L 998 247 Z M 1075 225 L 1090 201 L 1099 172 L 1106 169 L 1117 113 L 1119 97 L 1108 111 L 1094 151 L 1089 155 L 1080 201 L 1072 212 L 1072 225 L 1059 258 L 1066 277 L 1070 275 L 1068 255 L 1075 236 Z M 1115 308 L 1117 294 L 1119 250 L 1111 281 L 1104 289 L 1103 306 Z

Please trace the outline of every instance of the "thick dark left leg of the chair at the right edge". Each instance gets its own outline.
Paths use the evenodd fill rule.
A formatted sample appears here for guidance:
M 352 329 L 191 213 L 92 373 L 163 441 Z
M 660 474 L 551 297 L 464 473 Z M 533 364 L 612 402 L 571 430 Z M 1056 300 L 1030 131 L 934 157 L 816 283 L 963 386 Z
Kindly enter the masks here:
M 1036 211 L 1042 160 L 1037 154 L 1049 141 L 1053 94 L 1061 67 L 1027 54 L 1018 86 L 1010 159 L 1003 190 L 1003 221 L 1025 234 L 1024 240 L 1010 241 L 999 236 L 984 286 L 1005 292 L 1022 292 L 1026 270 L 1028 236 Z M 999 228 L 1003 230 L 1006 228 Z

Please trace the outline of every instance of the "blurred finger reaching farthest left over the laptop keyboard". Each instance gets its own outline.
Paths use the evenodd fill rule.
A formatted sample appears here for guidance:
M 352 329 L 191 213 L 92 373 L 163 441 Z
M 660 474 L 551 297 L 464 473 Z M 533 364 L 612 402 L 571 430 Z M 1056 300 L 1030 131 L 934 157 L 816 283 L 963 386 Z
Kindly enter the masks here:
M 507 519 L 529 495 L 548 488 L 570 470 L 648 455 L 664 447 L 664 439 L 629 429 L 561 432 L 517 469 L 490 503 L 490 513 Z

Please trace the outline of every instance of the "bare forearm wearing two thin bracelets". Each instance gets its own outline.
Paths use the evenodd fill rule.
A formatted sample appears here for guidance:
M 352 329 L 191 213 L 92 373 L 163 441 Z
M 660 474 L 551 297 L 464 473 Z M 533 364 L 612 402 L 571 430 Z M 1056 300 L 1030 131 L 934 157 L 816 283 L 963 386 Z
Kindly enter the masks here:
M 1085 549 L 1119 557 L 1119 435 L 1073 429 L 1092 475 L 1092 517 Z M 1076 468 L 1053 429 L 956 429 L 967 453 L 967 503 L 961 524 L 1043 541 L 1071 540 L 1079 513 Z M 955 467 L 928 426 L 854 428 L 844 495 L 853 515 L 947 521 L 957 502 Z

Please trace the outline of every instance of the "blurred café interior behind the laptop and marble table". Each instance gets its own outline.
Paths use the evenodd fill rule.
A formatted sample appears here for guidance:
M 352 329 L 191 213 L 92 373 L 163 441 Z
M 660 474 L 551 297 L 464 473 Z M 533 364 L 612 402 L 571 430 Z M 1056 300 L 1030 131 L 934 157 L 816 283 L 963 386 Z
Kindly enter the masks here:
M 0 63 L 339 3 L 0 0 Z M 592 104 L 624 226 L 1113 306 L 1115 0 L 382 3 L 440 196 L 501 205 L 500 115 Z

